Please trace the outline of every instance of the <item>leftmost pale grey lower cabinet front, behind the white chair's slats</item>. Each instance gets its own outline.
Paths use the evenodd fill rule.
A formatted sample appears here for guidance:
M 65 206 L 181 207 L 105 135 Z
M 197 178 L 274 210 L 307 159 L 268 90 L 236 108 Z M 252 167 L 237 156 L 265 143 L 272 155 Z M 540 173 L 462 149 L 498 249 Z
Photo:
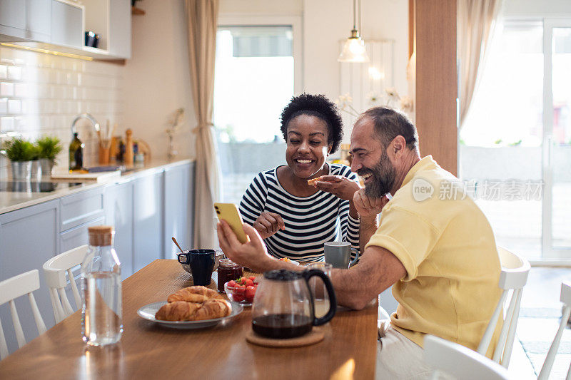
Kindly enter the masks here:
M 59 200 L 40 203 L 0 215 L 0 281 L 32 269 L 40 271 L 40 289 L 34 297 L 46 327 L 54 326 L 48 288 L 41 266 L 59 252 Z M 28 297 L 16 299 L 26 342 L 37 336 L 38 330 L 31 314 Z M 18 344 L 8 304 L 0 306 L 0 319 L 5 322 L 4 333 L 9 351 Z

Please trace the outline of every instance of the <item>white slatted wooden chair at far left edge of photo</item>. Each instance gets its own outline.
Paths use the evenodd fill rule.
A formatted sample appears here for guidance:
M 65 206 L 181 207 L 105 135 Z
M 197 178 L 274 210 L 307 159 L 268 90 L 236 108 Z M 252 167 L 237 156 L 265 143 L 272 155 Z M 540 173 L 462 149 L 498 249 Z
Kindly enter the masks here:
M 34 320 L 36 321 L 36 327 L 38 327 L 39 334 L 44 334 L 44 332 L 46 332 L 46 324 L 44 324 L 44 319 L 41 318 L 36 299 L 34 299 L 34 294 L 32 294 L 34 290 L 39 288 L 40 277 L 38 269 L 19 274 L 0 282 L 0 304 L 5 304 L 6 302 L 10 304 L 12 323 L 14 324 L 16 340 L 20 348 L 26 344 L 26 338 L 24 337 L 24 331 L 22 330 L 18 312 L 16 312 L 14 299 L 28 294 L 31 312 L 34 314 Z M 6 344 L 6 337 L 4 336 L 4 329 L 2 329 L 2 323 L 0 322 L 0 359 L 4 359 L 6 356 L 8 356 L 8 346 Z

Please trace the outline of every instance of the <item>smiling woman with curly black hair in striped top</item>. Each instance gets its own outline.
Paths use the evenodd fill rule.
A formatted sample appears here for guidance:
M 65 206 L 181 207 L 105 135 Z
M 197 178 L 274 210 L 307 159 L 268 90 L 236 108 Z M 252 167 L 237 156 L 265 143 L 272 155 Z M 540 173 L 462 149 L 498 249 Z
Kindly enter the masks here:
M 283 109 L 281 131 L 287 165 L 256 175 L 240 203 L 244 222 L 278 258 L 323 261 L 323 243 L 338 236 L 358 250 L 358 177 L 348 166 L 325 163 L 343 138 L 335 104 L 323 95 L 295 96 Z

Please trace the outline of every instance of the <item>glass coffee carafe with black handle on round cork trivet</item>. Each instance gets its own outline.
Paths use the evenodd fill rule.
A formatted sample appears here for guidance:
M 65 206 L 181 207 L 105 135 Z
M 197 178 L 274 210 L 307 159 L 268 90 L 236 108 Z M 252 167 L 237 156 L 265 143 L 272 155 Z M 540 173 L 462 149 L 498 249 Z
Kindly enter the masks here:
M 315 318 L 315 304 L 310 292 L 310 277 L 321 277 L 329 296 L 329 310 Z M 325 324 L 335 315 L 337 301 L 333 284 L 318 269 L 295 272 L 285 269 L 263 274 L 256 290 L 252 309 L 252 329 L 268 338 L 294 338 Z

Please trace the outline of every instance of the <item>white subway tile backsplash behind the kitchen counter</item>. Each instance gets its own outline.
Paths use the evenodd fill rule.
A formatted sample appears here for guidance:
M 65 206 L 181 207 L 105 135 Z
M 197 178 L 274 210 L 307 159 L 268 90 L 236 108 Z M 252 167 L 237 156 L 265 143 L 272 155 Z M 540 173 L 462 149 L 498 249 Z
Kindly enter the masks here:
M 99 121 L 118 123 L 123 116 L 123 66 L 80 61 L 0 46 L 0 131 L 37 138 L 54 135 L 64 145 L 58 159 L 66 167 L 71 122 L 89 112 Z M 79 125 L 79 123 L 78 123 Z M 78 128 L 86 160 L 97 157 L 96 135 L 89 122 Z M 0 162 L 0 178 L 4 165 Z

